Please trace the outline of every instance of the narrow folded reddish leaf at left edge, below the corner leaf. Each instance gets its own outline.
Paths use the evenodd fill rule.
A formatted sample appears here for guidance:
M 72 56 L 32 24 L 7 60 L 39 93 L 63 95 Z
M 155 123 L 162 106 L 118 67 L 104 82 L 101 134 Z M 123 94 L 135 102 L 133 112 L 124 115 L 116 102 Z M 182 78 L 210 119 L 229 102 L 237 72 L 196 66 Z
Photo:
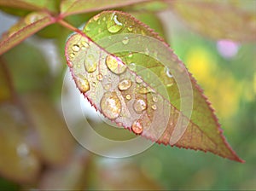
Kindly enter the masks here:
M 24 19 L 21 19 L 3 35 L 0 41 L 0 55 L 54 22 L 55 20 L 45 12 L 27 14 Z

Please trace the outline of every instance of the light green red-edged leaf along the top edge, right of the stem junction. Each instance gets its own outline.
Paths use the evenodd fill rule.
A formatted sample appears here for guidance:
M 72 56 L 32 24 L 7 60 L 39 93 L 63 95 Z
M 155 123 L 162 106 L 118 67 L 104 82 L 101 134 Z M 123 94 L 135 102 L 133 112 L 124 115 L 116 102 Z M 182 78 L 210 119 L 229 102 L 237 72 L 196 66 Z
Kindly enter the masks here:
M 102 9 L 113 9 L 124 7 L 127 5 L 131 5 L 134 3 L 142 3 L 147 2 L 149 0 L 102 0 L 102 1 L 94 1 L 94 0 L 62 0 L 61 2 L 61 15 L 63 17 L 70 14 L 80 14 L 86 12 L 92 12 L 96 10 Z

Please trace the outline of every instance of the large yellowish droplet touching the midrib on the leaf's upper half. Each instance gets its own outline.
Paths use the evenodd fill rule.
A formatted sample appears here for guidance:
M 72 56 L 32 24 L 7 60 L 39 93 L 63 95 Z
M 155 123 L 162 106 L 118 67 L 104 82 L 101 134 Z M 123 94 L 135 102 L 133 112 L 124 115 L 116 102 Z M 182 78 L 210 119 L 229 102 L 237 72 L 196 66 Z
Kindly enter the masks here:
M 126 65 L 124 65 L 118 57 L 115 58 L 112 55 L 106 57 L 106 65 L 108 69 L 115 74 L 121 74 L 126 70 Z

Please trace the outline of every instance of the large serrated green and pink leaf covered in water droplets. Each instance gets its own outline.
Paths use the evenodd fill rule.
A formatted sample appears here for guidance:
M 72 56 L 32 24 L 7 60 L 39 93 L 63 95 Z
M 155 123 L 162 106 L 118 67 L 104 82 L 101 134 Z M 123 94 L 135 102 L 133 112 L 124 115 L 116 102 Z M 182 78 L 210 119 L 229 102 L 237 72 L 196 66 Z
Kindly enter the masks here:
M 129 14 L 105 11 L 84 32 L 68 39 L 67 65 L 105 117 L 154 142 L 242 162 L 195 79 L 148 26 Z

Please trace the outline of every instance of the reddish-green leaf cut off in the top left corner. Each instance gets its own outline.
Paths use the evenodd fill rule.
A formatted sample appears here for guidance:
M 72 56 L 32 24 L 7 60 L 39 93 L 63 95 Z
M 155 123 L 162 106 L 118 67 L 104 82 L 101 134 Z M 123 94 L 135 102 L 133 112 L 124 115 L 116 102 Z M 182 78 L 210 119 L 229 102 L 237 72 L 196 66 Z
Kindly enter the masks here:
M 10 8 L 29 9 L 29 10 L 42 10 L 49 9 L 50 11 L 56 11 L 57 1 L 52 0 L 0 0 L 0 6 L 6 6 Z

